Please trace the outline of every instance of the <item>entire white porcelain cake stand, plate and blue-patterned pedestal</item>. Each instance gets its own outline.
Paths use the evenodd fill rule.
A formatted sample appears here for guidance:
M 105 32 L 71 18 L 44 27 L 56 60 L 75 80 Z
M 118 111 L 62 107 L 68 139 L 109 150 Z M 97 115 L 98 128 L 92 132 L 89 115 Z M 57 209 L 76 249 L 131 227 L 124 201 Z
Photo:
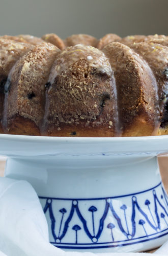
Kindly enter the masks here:
M 157 155 L 168 136 L 67 138 L 0 135 L 6 177 L 29 181 L 50 242 L 65 250 L 142 251 L 168 239 Z

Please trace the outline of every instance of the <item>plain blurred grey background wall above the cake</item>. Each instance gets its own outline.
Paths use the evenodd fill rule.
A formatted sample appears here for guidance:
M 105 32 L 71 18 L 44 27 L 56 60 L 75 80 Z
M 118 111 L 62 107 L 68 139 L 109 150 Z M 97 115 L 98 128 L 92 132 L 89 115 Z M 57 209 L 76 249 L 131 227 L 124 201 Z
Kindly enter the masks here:
M 168 0 L 0 0 L 0 35 L 166 34 Z

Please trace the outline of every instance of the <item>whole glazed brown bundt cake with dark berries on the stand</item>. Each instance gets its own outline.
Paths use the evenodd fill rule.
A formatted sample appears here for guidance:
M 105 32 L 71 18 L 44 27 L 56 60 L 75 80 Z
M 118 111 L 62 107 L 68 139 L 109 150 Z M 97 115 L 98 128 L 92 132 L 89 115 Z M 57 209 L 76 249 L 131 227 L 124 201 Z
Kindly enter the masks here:
M 0 36 L 0 133 L 168 134 L 168 36 Z

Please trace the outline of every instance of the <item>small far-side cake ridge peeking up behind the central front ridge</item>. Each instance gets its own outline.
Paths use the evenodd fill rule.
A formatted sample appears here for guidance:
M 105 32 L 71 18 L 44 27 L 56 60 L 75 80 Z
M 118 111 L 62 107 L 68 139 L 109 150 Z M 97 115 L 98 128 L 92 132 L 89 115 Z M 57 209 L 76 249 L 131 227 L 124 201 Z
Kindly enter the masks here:
M 95 37 L 86 34 L 71 35 L 65 39 L 66 47 L 75 46 L 78 44 L 96 47 L 97 43 L 98 40 Z

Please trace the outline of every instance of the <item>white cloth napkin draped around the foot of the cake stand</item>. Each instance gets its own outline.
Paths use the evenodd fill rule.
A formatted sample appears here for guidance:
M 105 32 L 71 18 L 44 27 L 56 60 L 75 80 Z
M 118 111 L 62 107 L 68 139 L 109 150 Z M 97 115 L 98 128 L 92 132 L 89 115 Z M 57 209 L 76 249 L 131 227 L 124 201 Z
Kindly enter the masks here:
M 168 242 L 155 253 L 168 255 Z M 118 253 L 65 252 L 49 243 L 48 226 L 33 187 L 0 178 L 0 256 L 118 256 Z M 148 253 L 120 253 L 120 256 Z

